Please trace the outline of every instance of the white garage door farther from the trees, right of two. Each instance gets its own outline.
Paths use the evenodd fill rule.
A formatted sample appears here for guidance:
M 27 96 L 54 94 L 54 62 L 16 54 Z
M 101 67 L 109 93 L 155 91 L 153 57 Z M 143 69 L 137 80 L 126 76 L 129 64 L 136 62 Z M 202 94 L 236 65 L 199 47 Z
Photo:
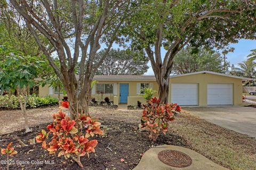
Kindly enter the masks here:
M 233 84 L 207 84 L 208 105 L 233 105 Z

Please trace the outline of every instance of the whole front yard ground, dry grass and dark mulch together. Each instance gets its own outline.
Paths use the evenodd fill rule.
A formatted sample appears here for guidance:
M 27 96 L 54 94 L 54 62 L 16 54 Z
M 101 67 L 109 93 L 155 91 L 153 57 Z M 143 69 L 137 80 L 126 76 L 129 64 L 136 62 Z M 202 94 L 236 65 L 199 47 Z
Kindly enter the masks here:
M 0 146 L 20 138 L 28 146 L 17 148 L 18 154 L 13 160 L 54 160 L 54 164 L 11 165 L 10 169 L 78 169 L 76 163 L 65 158 L 49 156 L 37 143 L 29 145 L 39 130 L 51 122 L 51 111 L 57 107 L 30 109 L 30 122 L 34 125 L 33 133 L 23 134 L 20 129 L 19 111 L 0 111 L 2 129 Z M 103 121 L 108 128 L 105 137 L 95 137 L 99 144 L 95 154 L 90 158 L 83 157 L 85 169 L 132 169 L 140 161 L 140 154 L 157 145 L 177 145 L 193 149 L 213 162 L 229 169 L 256 169 L 256 139 L 247 135 L 221 128 L 189 114 L 180 114 L 171 123 L 167 135 L 161 134 L 155 143 L 149 142 L 145 132 L 138 129 L 141 111 L 117 111 L 116 109 L 90 107 L 93 117 Z M 4 118 L 4 120 L 2 120 Z M 40 124 L 36 125 L 36 121 Z M 14 130 L 15 132 L 11 132 Z M 8 132 L 9 134 L 3 134 Z M 10 133 L 11 132 L 11 133 Z M 2 157 L 1 157 L 2 158 Z M 121 162 L 120 159 L 125 162 Z

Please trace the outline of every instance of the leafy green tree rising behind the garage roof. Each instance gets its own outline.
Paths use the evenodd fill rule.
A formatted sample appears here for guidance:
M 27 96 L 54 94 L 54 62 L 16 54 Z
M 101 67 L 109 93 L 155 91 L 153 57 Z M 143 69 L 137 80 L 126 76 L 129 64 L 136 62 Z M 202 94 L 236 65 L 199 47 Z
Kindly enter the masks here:
M 214 50 L 199 48 L 193 53 L 190 48 L 182 49 L 173 61 L 172 73 L 185 74 L 197 71 L 223 73 L 222 57 Z

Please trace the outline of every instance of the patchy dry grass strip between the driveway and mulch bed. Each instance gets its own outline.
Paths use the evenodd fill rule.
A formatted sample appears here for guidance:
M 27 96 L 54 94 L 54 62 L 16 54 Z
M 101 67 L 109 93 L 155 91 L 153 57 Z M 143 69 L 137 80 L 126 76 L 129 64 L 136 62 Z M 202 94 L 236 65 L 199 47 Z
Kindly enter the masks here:
M 191 149 L 214 163 L 234 170 L 256 170 L 256 140 L 194 116 L 182 115 L 172 129 L 191 143 Z

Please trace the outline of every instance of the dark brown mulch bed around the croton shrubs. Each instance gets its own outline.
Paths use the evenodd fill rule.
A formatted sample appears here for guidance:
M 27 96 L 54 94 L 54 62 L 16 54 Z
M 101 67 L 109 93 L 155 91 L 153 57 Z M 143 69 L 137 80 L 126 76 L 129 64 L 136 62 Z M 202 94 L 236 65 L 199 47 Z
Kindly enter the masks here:
M 167 135 L 159 135 L 156 142 L 150 142 L 147 132 L 139 131 L 138 123 L 127 123 L 107 118 L 102 119 L 102 121 L 102 124 L 109 128 L 107 137 L 94 137 L 99 143 L 95 148 L 95 154 L 92 153 L 90 158 L 86 156 L 81 158 L 84 169 L 133 169 L 140 162 L 140 154 L 146 152 L 150 147 L 158 145 L 189 147 L 188 142 L 177 134 L 167 132 Z M 41 143 L 29 145 L 28 140 L 33 139 L 41 129 L 45 129 L 46 125 L 34 126 L 34 131 L 28 134 L 24 134 L 24 130 L 21 130 L 0 136 L 0 146 L 4 148 L 13 141 L 13 146 L 18 151 L 18 154 L 11 158 L 14 163 L 29 162 L 27 165 L 10 165 L 10 169 L 81 169 L 70 159 L 66 160 L 64 157 L 58 158 L 49 155 L 46 150 L 41 148 Z M 19 143 L 14 140 L 14 137 L 18 137 L 28 146 L 15 147 Z M 1 156 L 1 159 L 3 160 L 4 157 Z M 121 162 L 120 159 L 125 161 Z M 32 160 L 37 161 L 38 164 L 32 164 Z M 53 164 L 46 164 L 45 160 Z M 6 167 L 0 167 L 0 169 L 4 168 Z

